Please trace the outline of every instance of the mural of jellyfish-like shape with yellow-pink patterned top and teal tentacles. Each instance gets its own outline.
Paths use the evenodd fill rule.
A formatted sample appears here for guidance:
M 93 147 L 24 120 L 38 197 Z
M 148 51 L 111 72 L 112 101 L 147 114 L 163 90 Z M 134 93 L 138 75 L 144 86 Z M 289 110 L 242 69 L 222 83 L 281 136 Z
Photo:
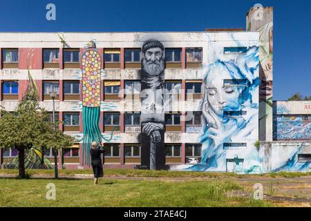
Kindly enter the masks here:
M 100 144 L 113 137 L 106 139 L 100 132 L 100 90 L 101 90 L 101 64 L 102 58 L 97 52 L 96 44 L 90 41 L 82 55 L 82 166 L 91 164 L 91 143 L 96 141 Z

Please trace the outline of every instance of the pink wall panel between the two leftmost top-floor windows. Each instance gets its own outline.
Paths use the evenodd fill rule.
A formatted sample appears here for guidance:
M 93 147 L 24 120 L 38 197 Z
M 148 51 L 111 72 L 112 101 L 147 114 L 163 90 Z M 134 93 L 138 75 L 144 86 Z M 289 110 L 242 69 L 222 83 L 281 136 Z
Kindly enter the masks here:
M 19 69 L 28 69 L 29 57 L 30 69 L 42 69 L 42 48 L 19 48 Z

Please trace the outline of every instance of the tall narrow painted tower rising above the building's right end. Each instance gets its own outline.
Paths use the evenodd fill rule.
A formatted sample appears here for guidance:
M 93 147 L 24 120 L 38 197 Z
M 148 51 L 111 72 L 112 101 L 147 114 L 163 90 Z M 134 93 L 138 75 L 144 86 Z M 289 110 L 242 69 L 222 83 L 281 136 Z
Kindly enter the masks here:
M 259 32 L 259 139 L 272 141 L 273 8 L 252 8 L 247 30 Z

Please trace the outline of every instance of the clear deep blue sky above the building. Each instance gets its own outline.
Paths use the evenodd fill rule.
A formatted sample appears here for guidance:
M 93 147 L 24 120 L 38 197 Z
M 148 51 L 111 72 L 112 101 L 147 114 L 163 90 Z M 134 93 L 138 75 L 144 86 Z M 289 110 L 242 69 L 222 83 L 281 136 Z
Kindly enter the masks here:
M 46 5 L 56 21 L 46 20 Z M 274 7 L 274 100 L 293 93 L 311 96 L 311 1 L 1 1 L 1 32 L 202 31 L 245 28 L 255 3 Z

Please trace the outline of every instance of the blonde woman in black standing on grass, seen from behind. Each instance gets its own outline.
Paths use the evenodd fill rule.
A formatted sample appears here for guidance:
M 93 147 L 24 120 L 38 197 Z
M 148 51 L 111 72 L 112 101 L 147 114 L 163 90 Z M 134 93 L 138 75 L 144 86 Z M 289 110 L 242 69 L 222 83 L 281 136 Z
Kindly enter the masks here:
M 102 153 L 105 153 L 104 144 L 100 142 L 100 146 L 99 148 L 97 148 L 97 142 L 93 142 L 92 148 L 90 150 L 90 154 L 91 154 L 91 164 L 92 164 L 93 173 L 94 173 L 94 185 L 98 184 L 99 177 L 104 176 L 104 172 L 102 169 L 102 158 L 100 157 Z M 104 159 L 104 156 L 103 156 L 103 159 Z

